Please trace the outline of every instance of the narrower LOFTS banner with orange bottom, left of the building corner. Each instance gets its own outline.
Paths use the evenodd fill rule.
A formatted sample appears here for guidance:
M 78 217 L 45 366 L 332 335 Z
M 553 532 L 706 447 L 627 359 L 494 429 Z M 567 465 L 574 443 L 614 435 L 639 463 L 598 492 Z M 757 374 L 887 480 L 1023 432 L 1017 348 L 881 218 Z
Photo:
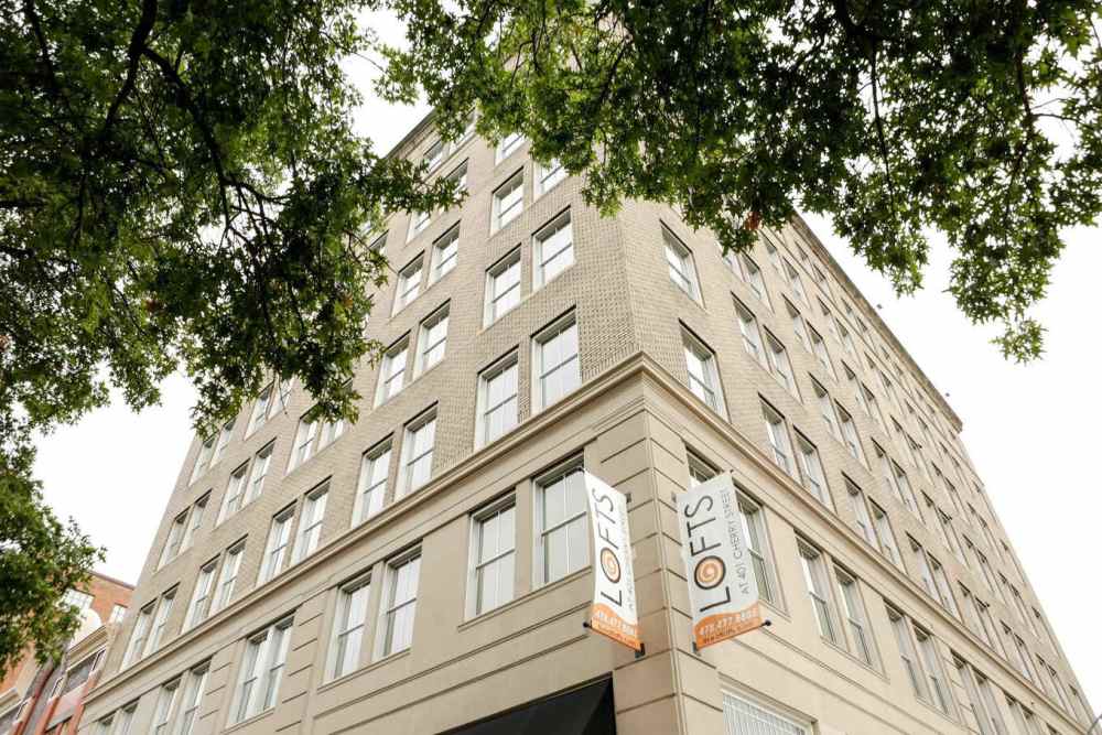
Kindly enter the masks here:
M 585 473 L 585 497 L 590 501 L 596 562 L 588 626 L 633 650 L 642 650 L 639 614 L 635 606 L 627 498 L 590 473 Z

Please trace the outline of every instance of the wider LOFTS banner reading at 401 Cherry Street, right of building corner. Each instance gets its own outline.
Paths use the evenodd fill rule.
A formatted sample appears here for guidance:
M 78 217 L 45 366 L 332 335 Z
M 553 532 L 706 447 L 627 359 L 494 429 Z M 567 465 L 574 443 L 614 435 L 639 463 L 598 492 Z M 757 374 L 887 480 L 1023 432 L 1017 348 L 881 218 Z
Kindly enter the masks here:
M 731 475 L 713 477 L 677 500 L 696 648 L 760 627 L 757 577 Z

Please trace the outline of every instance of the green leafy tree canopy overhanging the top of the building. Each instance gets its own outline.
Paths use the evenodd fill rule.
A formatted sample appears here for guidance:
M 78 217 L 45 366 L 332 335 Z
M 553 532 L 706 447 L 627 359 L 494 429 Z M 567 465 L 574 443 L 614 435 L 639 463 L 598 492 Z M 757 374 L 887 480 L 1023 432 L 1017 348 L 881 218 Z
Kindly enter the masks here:
M 406 37 L 375 37 L 365 11 Z M 176 369 L 202 431 L 272 375 L 355 418 L 346 385 L 378 354 L 363 323 L 389 272 L 364 233 L 456 192 L 354 132 L 352 55 L 380 60 L 386 99 L 426 97 L 445 136 L 473 111 L 490 138 L 522 132 L 606 212 L 666 201 L 736 249 L 821 213 L 900 293 L 939 230 L 961 311 L 1035 358 L 1030 307 L 1061 231 L 1102 206 L 1099 14 L 1098 0 L 0 0 L 0 455 L 25 479 L 12 458 L 35 432 L 110 386 L 153 403 Z

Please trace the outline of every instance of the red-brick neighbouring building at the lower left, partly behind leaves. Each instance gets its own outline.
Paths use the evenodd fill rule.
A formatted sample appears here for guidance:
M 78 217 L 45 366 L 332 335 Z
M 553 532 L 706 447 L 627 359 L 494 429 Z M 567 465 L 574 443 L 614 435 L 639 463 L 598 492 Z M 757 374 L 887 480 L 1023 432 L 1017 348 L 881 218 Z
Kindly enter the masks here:
M 65 593 L 65 603 L 80 612 L 80 628 L 60 660 L 40 664 L 34 652 L 0 680 L 0 735 L 68 735 L 76 733 L 84 698 L 102 673 L 107 650 L 126 617 L 133 587 L 104 574 Z

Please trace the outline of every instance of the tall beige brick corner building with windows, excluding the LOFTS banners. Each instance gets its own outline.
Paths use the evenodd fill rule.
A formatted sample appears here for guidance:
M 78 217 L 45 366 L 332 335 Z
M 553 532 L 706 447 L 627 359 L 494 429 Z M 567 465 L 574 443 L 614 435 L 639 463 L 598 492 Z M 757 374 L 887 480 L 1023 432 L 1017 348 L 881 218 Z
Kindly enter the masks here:
M 359 420 L 272 385 L 195 441 L 82 732 L 1085 731 L 960 419 L 802 221 L 725 258 L 521 139 L 395 154 L 468 196 L 372 235 Z M 639 658 L 582 627 L 583 467 L 630 493 Z M 719 472 L 773 625 L 696 653 L 673 497 Z

